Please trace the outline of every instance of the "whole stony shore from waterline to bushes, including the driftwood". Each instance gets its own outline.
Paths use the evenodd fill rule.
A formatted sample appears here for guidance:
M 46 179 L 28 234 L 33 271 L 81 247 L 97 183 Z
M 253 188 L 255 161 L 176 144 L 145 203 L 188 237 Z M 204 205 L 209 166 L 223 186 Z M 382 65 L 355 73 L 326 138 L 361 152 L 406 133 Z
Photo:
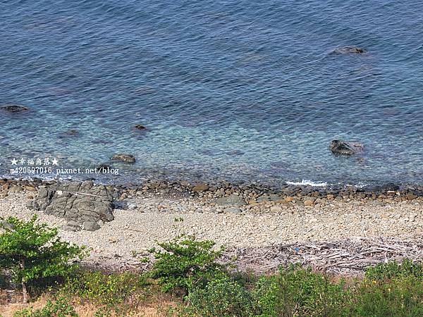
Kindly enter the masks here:
M 65 240 L 92 249 L 85 266 L 148 269 L 140 262 L 147 249 L 181 233 L 225 245 L 226 259 L 236 256 L 245 271 L 271 273 L 278 265 L 300 261 L 341 275 L 360 275 L 366 265 L 401 256 L 423 260 L 419 187 L 388 184 L 366 191 L 189 182 L 116 186 L 121 207 L 114 209 L 114 220 L 96 231 L 73 232 L 61 229 L 63 218 L 28 208 L 40 187 L 54 183 L 0 180 L 0 216 L 30 218 L 37 213 L 40 221 L 58 227 Z M 403 254 L 381 247 L 385 251 L 371 249 L 360 256 L 366 246 L 389 241 L 402 246 Z

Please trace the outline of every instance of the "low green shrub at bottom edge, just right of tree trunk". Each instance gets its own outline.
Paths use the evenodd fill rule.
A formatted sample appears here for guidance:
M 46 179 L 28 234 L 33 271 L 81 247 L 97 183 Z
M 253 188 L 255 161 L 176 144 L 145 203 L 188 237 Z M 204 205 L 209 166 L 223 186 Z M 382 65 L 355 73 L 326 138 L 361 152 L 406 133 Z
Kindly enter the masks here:
M 49 300 L 42 309 L 23 309 L 13 315 L 13 317 L 78 317 L 71 304 L 63 297 L 55 302 Z

